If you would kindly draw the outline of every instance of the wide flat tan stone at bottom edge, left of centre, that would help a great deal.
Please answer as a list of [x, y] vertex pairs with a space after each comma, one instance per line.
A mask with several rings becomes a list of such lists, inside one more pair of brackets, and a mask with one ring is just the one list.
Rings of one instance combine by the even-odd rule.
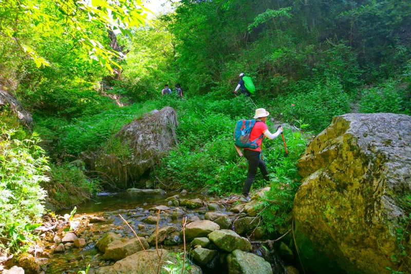
[[[158, 252], [162, 254], [160, 269], [163, 269], [162, 267], [167, 265], [166, 261], [171, 261], [173, 263], [176, 263], [177, 261], [176, 258], [174, 256], [171, 256], [167, 250], [159, 249]], [[147, 258], [147, 255], [148, 255], [148, 258], [150, 258], [150, 260]], [[153, 266], [157, 270], [158, 263], [159, 263], [159, 257], [155, 249], [146, 250], [146, 253], [144, 251], [139, 251], [137, 253], [129, 255], [128, 257], [120, 261], [117, 261], [112, 266], [101, 267], [100, 269], [97, 270], [97, 274], [153, 273], [153, 270], [150, 265], [150, 261], [152, 262]]]

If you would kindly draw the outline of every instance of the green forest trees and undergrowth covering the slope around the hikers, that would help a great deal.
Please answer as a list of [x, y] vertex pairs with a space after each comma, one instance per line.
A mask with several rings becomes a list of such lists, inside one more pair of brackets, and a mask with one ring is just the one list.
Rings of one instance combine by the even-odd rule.
[[[182, 0], [155, 20], [146, 20], [141, 3], [79, 3], [0, 3], [0, 87], [33, 115], [36, 132], [31, 137], [2, 106], [0, 209], [10, 214], [2, 215], [0, 236], [12, 242], [1, 241], [6, 251], [21, 247], [43, 213], [32, 195], [45, 195], [39, 185], [57, 208], [88, 199], [104, 177], [89, 173], [79, 155], [111, 146], [126, 157], [114, 134], [166, 105], [179, 116], [179, 145], [151, 177], [173, 189], [239, 192], [246, 163], [238, 163], [232, 131], [255, 108], [232, 93], [240, 72], [254, 80], [253, 102], [272, 114], [269, 127], [287, 122], [317, 134], [344, 113], [411, 114], [409, 1]], [[104, 16], [110, 8], [118, 21]], [[160, 98], [166, 83], [181, 83], [185, 100]], [[280, 140], [265, 148], [274, 186], [287, 186], [272, 188], [269, 198], [283, 203], [262, 213], [271, 231], [288, 225], [295, 163], [307, 143], [300, 132], [285, 134], [289, 158]], [[30, 165], [22, 169], [11, 158]]]

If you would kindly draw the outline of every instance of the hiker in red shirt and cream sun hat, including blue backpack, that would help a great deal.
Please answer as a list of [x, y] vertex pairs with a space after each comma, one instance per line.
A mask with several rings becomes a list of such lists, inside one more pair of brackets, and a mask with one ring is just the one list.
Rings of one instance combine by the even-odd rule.
[[244, 149], [244, 156], [248, 160], [248, 174], [244, 187], [242, 187], [241, 198], [243, 202], [250, 200], [249, 192], [253, 184], [255, 174], [259, 168], [263, 174], [263, 179], [269, 181], [266, 163], [261, 152], [261, 142], [264, 137], [269, 139], [277, 138], [283, 133], [283, 127], [278, 126], [277, 131], [272, 134], [266, 125], [267, 116], [270, 115], [264, 108], [255, 110], [255, 120], [239, 120], [234, 130], [234, 145], [240, 156], [239, 148]]

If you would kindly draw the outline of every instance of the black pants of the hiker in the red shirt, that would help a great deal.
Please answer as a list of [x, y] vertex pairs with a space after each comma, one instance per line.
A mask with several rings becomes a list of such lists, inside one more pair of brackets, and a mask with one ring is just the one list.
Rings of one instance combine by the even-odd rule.
[[255, 178], [255, 174], [257, 174], [258, 168], [263, 174], [263, 178], [265, 180], [268, 181], [269, 177], [268, 177], [268, 170], [266, 167], [266, 163], [263, 160], [261, 160], [259, 151], [245, 149], [244, 156], [248, 160], [248, 174], [247, 174], [247, 179], [244, 184], [244, 187], [242, 187], [242, 195], [248, 196], [251, 185], [253, 184], [253, 181]]

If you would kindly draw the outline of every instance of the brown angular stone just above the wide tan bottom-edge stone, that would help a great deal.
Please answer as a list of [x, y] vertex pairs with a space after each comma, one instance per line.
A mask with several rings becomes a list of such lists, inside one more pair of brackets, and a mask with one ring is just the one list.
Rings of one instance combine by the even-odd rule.
[[[144, 249], [148, 249], [149, 246], [145, 238], [140, 237], [139, 239]], [[103, 258], [106, 260], [119, 261], [128, 255], [143, 250], [141, 244], [137, 238], [115, 240], [107, 245]]]

